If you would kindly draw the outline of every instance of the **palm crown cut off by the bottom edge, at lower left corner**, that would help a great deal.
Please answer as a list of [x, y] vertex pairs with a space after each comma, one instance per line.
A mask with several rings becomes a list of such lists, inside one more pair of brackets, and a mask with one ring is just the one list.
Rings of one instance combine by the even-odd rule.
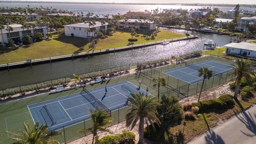
[[62, 133], [55, 131], [47, 132], [47, 125], [39, 126], [39, 122], [36, 122], [32, 129], [30, 129], [29, 125], [26, 123], [23, 123], [23, 126], [25, 131], [20, 131], [20, 135], [17, 133], [6, 131], [6, 133], [12, 135], [10, 139], [16, 141], [15, 143], [59, 143], [58, 141], [54, 140], [53, 137], [56, 135], [61, 135]]

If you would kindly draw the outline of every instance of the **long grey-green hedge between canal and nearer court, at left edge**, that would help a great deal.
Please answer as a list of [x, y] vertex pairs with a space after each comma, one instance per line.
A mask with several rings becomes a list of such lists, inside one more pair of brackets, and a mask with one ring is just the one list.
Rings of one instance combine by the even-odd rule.
[[47, 87], [53, 87], [57, 85], [65, 85], [66, 83], [69, 83], [71, 81], [70, 78], [59, 78], [59, 79], [54, 79], [52, 81], [45, 81], [42, 83], [38, 84], [30, 84], [30, 85], [25, 85], [25, 86], [18, 86], [18, 87], [13, 87], [10, 89], [5, 89], [0, 91], [0, 98], [10, 98], [14, 94], [24, 94], [26, 92], [30, 91], [39, 91], [41, 89], [45, 89]]

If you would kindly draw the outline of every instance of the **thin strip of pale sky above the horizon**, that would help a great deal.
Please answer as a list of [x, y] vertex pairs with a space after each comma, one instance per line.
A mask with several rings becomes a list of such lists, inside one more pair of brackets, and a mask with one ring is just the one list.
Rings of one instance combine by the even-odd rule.
[[[0, 0], [3, 1], [3, 0]], [[36, 1], [36, 0], [22, 0]], [[204, 3], [204, 4], [256, 4], [256, 0], [40, 0], [51, 2], [99, 2], [99, 3]]]

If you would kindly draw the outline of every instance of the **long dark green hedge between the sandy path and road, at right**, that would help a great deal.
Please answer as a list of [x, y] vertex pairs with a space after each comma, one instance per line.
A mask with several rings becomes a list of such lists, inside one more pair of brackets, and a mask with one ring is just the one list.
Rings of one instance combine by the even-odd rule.
[[197, 106], [199, 111], [203, 113], [205, 111], [214, 109], [226, 109], [234, 104], [233, 96], [230, 94], [225, 94], [221, 95], [219, 98], [192, 103], [192, 106]]

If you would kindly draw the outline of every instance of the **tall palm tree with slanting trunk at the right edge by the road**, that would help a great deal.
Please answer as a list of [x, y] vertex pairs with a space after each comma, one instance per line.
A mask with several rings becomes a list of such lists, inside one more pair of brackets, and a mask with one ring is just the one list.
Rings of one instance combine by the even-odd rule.
[[234, 75], [237, 76], [236, 78], [236, 89], [234, 94], [234, 99], [237, 99], [241, 79], [244, 77], [248, 83], [252, 82], [252, 76], [255, 76], [254, 70], [255, 70], [255, 64], [252, 64], [249, 60], [242, 59], [235, 59], [236, 64], [231, 64], [231, 68], [234, 68]]

